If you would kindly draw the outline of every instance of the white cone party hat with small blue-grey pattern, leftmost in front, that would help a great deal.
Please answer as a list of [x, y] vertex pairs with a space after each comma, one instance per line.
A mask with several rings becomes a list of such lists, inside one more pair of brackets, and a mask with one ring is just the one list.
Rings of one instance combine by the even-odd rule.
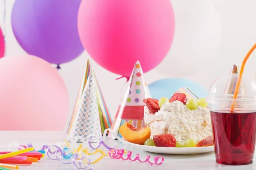
[[[91, 68], [81, 95], [81, 100], [78, 103], [76, 115], [70, 127], [70, 136], [68, 139], [77, 142], [86, 142], [90, 136], [95, 135], [96, 137], [93, 138], [94, 141], [92, 142], [97, 142], [96, 140], [102, 137], [101, 115], [99, 115], [96, 85], [95, 75]], [[78, 138], [79, 136], [81, 137]]]

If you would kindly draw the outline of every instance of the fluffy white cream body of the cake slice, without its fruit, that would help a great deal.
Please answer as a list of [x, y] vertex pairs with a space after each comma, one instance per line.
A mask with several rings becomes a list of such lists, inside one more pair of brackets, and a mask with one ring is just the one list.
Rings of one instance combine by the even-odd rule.
[[212, 135], [209, 108], [198, 106], [191, 111], [180, 101], [165, 102], [155, 114], [149, 113], [145, 106], [144, 122], [150, 127], [151, 138], [169, 133], [175, 136], [177, 142], [184, 143], [187, 139], [199, 142]]

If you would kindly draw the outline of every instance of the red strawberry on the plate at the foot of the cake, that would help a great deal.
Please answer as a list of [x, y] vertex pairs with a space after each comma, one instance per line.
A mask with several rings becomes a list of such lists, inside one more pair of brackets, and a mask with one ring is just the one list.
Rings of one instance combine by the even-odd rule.
[[168, 133], [155, 135], [153, 137], [153, 141], [157, 147], [175, 147], [176, 146], [175, 137]]

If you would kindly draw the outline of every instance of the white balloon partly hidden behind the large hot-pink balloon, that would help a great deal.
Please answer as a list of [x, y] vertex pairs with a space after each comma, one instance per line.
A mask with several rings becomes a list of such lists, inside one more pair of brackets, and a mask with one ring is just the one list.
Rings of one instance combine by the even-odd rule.
[[175, 36], [166, 58], [155, 68], [161, 74], [182, 77], [211, 65], [221, 44], [221, 22], [209, 0], [171, 0]]

